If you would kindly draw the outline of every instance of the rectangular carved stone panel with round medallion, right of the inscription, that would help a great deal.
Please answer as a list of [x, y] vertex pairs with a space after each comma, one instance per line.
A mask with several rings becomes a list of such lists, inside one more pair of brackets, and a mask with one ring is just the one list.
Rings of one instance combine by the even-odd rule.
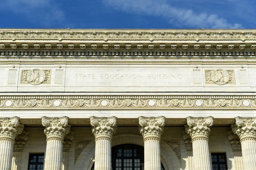
[[206, 84], [236, 84], [234, 70], [205, 70]]

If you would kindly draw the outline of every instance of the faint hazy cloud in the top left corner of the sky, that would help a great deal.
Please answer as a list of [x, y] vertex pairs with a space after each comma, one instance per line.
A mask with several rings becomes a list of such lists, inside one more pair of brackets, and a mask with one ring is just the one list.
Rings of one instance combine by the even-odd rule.
[[3, 0], [0, 10], [17, 13], [41, 25], [56, 24], [64, 17], [63, 11], [52, 0]]

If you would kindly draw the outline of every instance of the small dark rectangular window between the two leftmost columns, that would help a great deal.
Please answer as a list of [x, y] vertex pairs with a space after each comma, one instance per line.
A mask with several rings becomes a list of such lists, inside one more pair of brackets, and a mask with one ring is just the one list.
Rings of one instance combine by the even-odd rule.
[[43, 170], [44, 158], [44, 153], [29, 154], [28, 170]]

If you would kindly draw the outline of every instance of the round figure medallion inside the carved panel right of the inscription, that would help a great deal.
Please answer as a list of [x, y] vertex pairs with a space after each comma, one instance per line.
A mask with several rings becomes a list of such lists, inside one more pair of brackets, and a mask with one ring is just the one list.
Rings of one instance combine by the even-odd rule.
[[229, 80], [228, 72], [223, 69], [214, 70], [211, 74], [211, 80], [217, 85], [225, 85]]

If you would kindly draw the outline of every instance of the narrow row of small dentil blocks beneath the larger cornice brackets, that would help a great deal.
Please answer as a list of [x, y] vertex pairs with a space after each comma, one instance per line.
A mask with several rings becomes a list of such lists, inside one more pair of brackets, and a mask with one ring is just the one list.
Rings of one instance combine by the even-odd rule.
[[237, 58], [241, 56], [256, 56], [256, 51], [0, 51], [0, 57], [9, 57], [9, 56], [22, 56], [25, 57], [40, 57], [44, 56], [44, 58], [52, 58], [53, 56], [63, 57], [105, 57], [105, 58], [113, 58], [118, 56], [125, 57], [147, 57], [154, 58], [156, 56], [166, 58], [177, 56], [183, 57], [232, 57]]

